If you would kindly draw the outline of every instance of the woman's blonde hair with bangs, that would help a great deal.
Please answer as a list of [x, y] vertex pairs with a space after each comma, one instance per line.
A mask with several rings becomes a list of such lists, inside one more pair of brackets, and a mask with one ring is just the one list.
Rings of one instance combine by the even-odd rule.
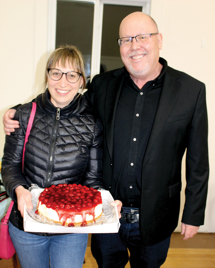
[[64, 68], [68, 63], [75, 69], [74, 71], [82, 74], [82, 78], [84, 81], [80, 91], [80, 93], [82, 93], [86, 86], [86, 76], [84, 73], [84, 58], [81, 52], [74, 45], [61, 45], [59, 48], [55, 49], [50, 55], [45, 70], [45, 79], [43, 83], [44, 89], [46, 89], [46, 85], [48, 82], [48, 69], [55, 68], [56, 64], [59, 64], [59, 61], [61, 61], [61, 65]]

